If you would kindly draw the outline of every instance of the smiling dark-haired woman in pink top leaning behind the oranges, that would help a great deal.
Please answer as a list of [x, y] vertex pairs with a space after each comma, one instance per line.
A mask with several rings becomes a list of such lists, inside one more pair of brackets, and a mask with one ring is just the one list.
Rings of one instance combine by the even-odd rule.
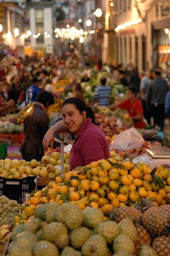
[[109, 158], [109, 146], [102, 129], [95, 123], [94, 112], [78, 98], [62, 103], [63, 120], [52, 126], [43, 139], [44, 149], [53, 145], [55, 134], [70, 131], [75, 140], [70, 152], [70, 169]]

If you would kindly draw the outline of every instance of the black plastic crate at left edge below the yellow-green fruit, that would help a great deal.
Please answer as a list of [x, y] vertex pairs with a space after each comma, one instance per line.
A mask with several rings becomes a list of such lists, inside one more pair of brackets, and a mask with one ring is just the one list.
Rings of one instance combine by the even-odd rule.
[[30, 194], [35, 189], [35, 177], [26, 177], [23, 179], [8, 179], [0, 177], [0, 195], [6, 195], [7, 198], [17, 200], [23, 203], [26, 194]]

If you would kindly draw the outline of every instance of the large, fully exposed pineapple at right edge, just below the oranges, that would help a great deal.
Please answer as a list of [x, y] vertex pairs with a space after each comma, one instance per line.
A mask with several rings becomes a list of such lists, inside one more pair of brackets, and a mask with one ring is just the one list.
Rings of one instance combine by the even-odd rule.
[[142, 216], [142, 223], [151, 237], [167, 234], [170, 226], [170, 205], [147, 209]]

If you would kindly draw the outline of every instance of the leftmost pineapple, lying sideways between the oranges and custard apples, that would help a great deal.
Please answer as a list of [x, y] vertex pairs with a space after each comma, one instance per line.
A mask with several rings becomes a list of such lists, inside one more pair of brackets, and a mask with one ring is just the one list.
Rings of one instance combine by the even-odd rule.
[[117, 223], [122, 221], [124, 218], [131, 218], [133, 221], [142, 218], [142, 212], [133, 207], [120, 207], [113, 209], [111, 219]]

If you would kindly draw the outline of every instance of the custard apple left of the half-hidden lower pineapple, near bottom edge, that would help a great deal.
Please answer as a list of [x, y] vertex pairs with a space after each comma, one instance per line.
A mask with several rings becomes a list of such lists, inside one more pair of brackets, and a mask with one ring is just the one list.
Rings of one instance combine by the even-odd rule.
[[119, 235], [113, 241], [113, 251], [114, 253], [119, 252], [121, 250], [127, 250], [130, 253], [134, 253], [135, 246], [133, 241], [126, 235]]

